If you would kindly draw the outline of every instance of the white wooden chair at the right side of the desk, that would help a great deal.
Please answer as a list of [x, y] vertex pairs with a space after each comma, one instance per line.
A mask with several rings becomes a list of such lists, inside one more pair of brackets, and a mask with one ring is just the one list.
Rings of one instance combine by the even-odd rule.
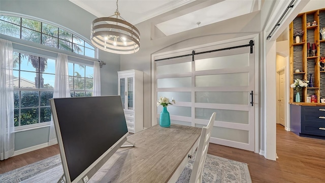
[[210, 141], [210, 136], [211, 136], [211, 130], [213, 127], [215, 115], [216, 115], [216, 113], [213, 112], [210, 117], [210, 121], [209, 121], [209, 124], [207, 125], [207, 127], [202, 128], [199, 146], [197, 149], [197, 155], [195, 157], [193, 169], [192, 169], [191, 176], [189, 179], [190, 183], [201, 183], [202, 182], [202, 173], [203, 173], [205, 159], [207, 157], [209, 141]]

